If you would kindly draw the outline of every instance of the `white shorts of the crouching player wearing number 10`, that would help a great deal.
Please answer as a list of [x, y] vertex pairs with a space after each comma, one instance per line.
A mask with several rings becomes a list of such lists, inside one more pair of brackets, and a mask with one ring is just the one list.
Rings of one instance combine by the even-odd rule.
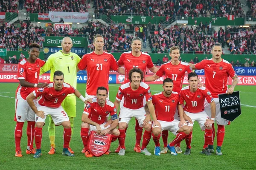
[[199, 126], [201, 127], [201, 130], [205, 130], [204, 122], [206, 121], [206, 119], [210, 119], [205, 111], [199, 113], [190, 113], [187, 111], [184, 112], [192, 119], [193, 124], [189, 123], [189, 126], [193, 126], [194, 122], [197, 121]]

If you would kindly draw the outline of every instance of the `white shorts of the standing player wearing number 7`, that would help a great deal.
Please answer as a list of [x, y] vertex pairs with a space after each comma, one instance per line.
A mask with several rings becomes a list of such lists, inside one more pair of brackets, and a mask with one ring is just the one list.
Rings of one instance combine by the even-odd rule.
[[[227, 125], [228, 120], [221, 118], [221, 108], [220, 108], [220, 102], [218, 98], [214, 98], [214, 102], [216, 105], [216, 115], [215, 115], [215, 121], [218, 125]], [[211, 105], [207, 102], [205, 99], [204, 101], [204, 111], [207, 113], [207, 115], [211, 118]]]

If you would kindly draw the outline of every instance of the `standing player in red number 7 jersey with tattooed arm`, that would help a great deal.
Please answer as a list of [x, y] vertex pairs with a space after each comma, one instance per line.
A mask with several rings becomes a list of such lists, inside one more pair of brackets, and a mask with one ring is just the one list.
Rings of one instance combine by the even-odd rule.
[[[212, 58], [204, 59], [197, 64], [189, 63], [192, 69], [204, 69], [205, 73], [205, 86], [211, 92], [212, 97], [214, 98], [214, 102], [216, 105], [216, 122], [218, 125], [217, 130], [217, 147], [216, 147], [216, 155], [222, 155], [221, 146], [224, 140], [225, 135], [225, 125], [229, 125], [229, 121], [221, 118], [220, 104], [218, 99], [218, 94], [232, 94], [235, 86], [238, 83], [239, 78], [234, 71], [232, 65], [221, 58], [222, 48], [221, 44], [216, 43], [212, 46]], [[233, 79], [232, 85], [230, 88], [227, 88], [227, 80], [228, 77]], [[208, 102], [204, 103], [205, 111], [209, 117], [211, 117], [211, 108]], [[215, 129], [212, 126], [212, 135], [213, 139], [215, 137]], [[211, 142], [208, 146], [211, 152], [214, 152], [213, 142]]]

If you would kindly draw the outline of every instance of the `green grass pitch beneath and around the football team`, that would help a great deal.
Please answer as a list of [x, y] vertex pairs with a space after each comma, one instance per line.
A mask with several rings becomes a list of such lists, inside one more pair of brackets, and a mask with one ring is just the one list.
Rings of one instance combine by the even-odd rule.
[[[77, 89], [81, 94], [85, 93], [85, 84], [78, 84]], [[150, 85], [152, 94], [162, 91], [161, 85]], [[151, 169], [151, 170], [169, 170], [169, 169], [256, 169], [256, 87], [255, 86], [237, 86], [236, 91], [241, 91], [240, 99], [242, 115], [226, 126], [224, 144], [222, 146], [222, 156], [201, 155], [199, 152], [204, 144], [204, 132], [195, 123], [192, 139], [192, 153], [185, 156], [183, 153], [172, 156], [170, 153], [154, 156], [154, 142], [151, 139], [148, 144], [148, 150], [152, 156], [145, 156], [133, 151], [135, 144], [134, 119], [131, 120], [126, 136], [125, 156], [118, 156], [114, 153], [118, 141], [111, 144], [110, 155], [101, 157], [86, 158], [81, 150], [83, 144], [80, 137], [81, 114], [83, 103], [77, 99], [77, 113], [75, 118], [75, 128], [70, 147], [75, 151], [75, 157], [62, 156], [63, 147], [63, 127], [56, 128], [56, 154], [49, 155], [50, 149], [48, 135], [48, 118], [43, 128], [42, 153], [39, 159], [34, 159], [32, 155], [26, 155], [26, 123], [23, 127], [23, 137], [21, 139], [21, 148], [23, 157], [15, 157], [14, 129], [13, 121], [15, 114], [15, 91], [17, 83], [0, 84], [0, 170], [6, 169], [24, 169], [24, 170], [48, 170], [48, 169]], [[119, 85], [110, 84], [110, 99], [114, 102]], [[215, 125], [216, 128], [216, 125]], [[216, 128], [217, 129], [217, 128]], [[169, 133], [168, 142], [174, 139], [174, 135]], [[161, 148], [163, 147], [162, 138], [160, 139]], [[34, 144], [35, 145], [35, 144]], [[181, 142], [183, 152], [186, 149], [185, 142]], [[216, 139], [215, 139], [216, 147]]]

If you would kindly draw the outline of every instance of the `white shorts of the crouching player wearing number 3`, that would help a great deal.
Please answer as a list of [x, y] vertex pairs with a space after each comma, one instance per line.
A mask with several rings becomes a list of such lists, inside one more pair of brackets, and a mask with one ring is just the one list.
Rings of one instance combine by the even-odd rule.
[[47, 115], [52, 117], [52, 120], [56, 126], [61, 125], [62, 122], [69, 121], [67, 113], [64, 111], [62, 106], [59, 108], [49, 108], [46, 106], [37, 105], [38, 111], [44, 111], [44, 119], [38, 117], [35, 114], [35, 122], [45, 122]]

